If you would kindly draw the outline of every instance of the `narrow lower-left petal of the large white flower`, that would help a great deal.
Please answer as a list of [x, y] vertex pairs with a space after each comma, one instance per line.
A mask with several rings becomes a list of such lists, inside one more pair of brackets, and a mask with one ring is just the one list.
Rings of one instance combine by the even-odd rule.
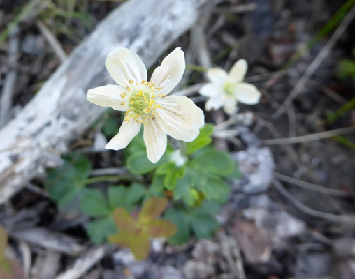
[[136, 137], [140, 130], [140, 123], [133, 121], [131, 119], [129, 122], [124, 121], [122, 123], [121, 128], [119, 128], [119, 132], [115, 137], [106, 144], [106, 149], [119, 150], [125, 148], [129, 142]]

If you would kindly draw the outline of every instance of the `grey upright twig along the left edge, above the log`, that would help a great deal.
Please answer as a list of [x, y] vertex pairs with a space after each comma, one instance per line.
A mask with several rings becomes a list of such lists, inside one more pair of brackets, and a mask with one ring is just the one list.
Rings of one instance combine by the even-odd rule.
[[8, 51], [8, 65], [11, 67], [11, 69], [6, 75], [3, 92], [1, 93], [0, 98], [0, 128], [3, 127], [10, 119], [9, 112], [13, 103], [13, 91], [17, 80], [17, 70], [14, 66], [17, 63], [19, 43], [20, 40], [18, 38], [18, 28], [15, 28], [10, 32], [10, 43]]

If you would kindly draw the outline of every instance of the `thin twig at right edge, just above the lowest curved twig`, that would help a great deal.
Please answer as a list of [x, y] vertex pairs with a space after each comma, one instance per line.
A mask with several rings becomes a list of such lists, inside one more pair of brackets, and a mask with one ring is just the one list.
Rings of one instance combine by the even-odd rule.
[[352, 196], [355, 195], [355, 193], [349, 193], [342, 190], [326, 188], [324, 186], [319, 186], [317, 184], [301, 181], [299, 179], [294, 179], [293, 177], [289, 177], [284, 174], [279, 174], [277, 172], [275, 172], [274, 174], [275, 174], [275, 178], [280, 179], [281, 181], [291, 183], [293, 185], [300, 186], [302, 188], [305, 188], [307, 190], [312, 190], [314, 192], [319, 192], [326, 195], [340, 196], [340, 197], [349, 197], [349, 195]]

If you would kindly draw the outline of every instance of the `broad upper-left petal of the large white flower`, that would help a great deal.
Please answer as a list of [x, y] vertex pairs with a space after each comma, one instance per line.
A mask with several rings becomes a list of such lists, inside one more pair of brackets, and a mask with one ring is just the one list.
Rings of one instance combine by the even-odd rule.
[[129, 80], [140, 83], [147, 80], [147, 69], [139, 56], [129, 49], [117, 47], [106, 59], [106, 69], [117, 84], [131, 86]]

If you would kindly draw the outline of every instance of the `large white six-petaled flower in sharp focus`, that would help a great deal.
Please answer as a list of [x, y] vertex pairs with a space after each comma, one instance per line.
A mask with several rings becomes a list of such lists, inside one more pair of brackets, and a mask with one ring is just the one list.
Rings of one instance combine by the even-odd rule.
[[193, 141], [204, 124], [203, 111], [189, 98], [166, 96], [180, 82], [185, 69], [184, 52], [176, 48], [154, 70], [147, 82], [147, 69], [138, 55], [118, 47], [106, 59], [106, 68], [119, 85], [91, 89], [87, 100], [126, 111], [119, 133], [106, 149], [125, 148], [144, 126], [148, 159], [153, 163], [163, 156], [166, 135], [184, 142]]

